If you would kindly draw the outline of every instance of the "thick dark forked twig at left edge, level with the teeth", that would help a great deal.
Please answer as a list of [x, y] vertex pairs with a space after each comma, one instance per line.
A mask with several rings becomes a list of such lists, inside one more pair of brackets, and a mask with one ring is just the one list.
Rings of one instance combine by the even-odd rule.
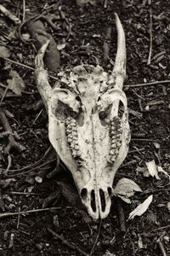
[[2, 109], [0, 109], [0, 120], [1, 123], [4, 127], [5, 131], [8, 131], [10, 134], [8, 136], [8, 145], [6, 146], [6, 148], [4, 148], [4, 153], [5, 154], [9, 154], [9, 151], [11, 148], [15, 148], [18, 152], [22, 152], [23, 150], [26, 150], [26, 148], [22, 145], [20, 145], [20, 143], [17, 143], [14, 139], [13, 131], [8, 123], [8, 119], [6, 118], [5, 113], [3, 112]]

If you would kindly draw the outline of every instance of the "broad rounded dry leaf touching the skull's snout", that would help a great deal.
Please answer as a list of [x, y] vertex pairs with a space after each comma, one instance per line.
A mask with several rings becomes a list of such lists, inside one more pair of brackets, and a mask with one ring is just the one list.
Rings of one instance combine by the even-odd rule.
[[123, 201], [130, 203], [128, 197], [133, 196], [135, 191], [142, 192], [142, 189], [133, 180], [123, 177], [116, 183], [114, 194], [119, 196]]

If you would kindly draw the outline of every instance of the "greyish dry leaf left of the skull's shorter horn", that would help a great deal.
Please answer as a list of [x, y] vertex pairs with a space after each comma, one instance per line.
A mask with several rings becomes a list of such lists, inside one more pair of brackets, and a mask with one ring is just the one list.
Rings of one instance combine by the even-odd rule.
[[16, 95], [21, 96], [21, 92], [25, 89], [24, 80], [20, 78], [19, 73], [16, 71], [10, 71], [12, 79], [8, 79], [8, 89], [12, 90]]

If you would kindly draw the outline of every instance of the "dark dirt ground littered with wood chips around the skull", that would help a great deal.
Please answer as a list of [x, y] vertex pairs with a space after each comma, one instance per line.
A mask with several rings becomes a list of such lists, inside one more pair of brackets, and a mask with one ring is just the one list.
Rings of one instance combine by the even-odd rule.
[[[95, 56], [105, 71], [111, 70], [116, 55], [114, 13], [119, 15], [127, 41], [127, 79], [124, 91], [128, 107], [135, 113], [129, 114], [132, 133], [129, 153], [116, 172], [113, 186], [121, 177], [127, 177], [139, 184], [143, 192], [133, 195], [131, 204], [113, 198], [110, 215], [99, 223], [82, 209], [77, 202], [76, 192], [69, 192], [73, 182], [62, 170], [62, 166], [59, 166], [62, 172], [56, 177], [46, 177], [47, 173], [54, 170], [56, 163], [54, 157], [47, 153], [50, 147], [47, 113], [41, 104], [37, 105], [41, 97], [35, 84], [34, 72], [11, 62], [17, 61], [34, 67], [37, 55], [33, 44], [35, 41], [30, 41], [30, 38], [28, 42], [26, 23], [22, 24], [19, 35], [20, 25], [15, 25], [0, 14], [0, 46], [10, 51], [9, 61], [0, 57], [1, 109], [8, 119], [15, 140], [26, 148], [22, 152], [11, 148], [9, 154], [4, 154], [8, 137], [0, 137], [2, 256], [73, 256], [90, 253], [98, 256], [170, 255], [169, 178], [163, 173], [159, 173], [160, 179], [156, 179], [144, 177], [142, 172], [137, 172], [137, 168], [145, 166], [145, 161], [155, 160], [156, 165], [170, 175], [170, 82], [167, 81], [170, 79], [170, 3], [168, 0], [104, 2], [90, 1], [83, 7], [77, 6], [73, 0], [3, 0], [1, 4], [20, 20], [23, 20], [23, 9], [25, 20], [30, 14], [48, 17], [51, 14], [59, 15], [60, 9], [63, 11], [66, 21], [65, 18], [57, 20], [54, 23], [56, 31], [43, 21], [48, 33], [53, 35], [59, 46], [59, 68], [75, 67], [81, 62], [95, 64]], [[26, 3], [26, 8], [23, 3]], [[110, 27], [111, 37], [107, 38]], [[24, 36], [27, 38], [23, 39]], [[150, 36], [152, 49], [148, 65]], [[104, 44], [109, 49], [109, 58], [105, 57], [107, 51]], [[59, 65], [59, 60], [56, 61]], [[11, 90], [5, 93], [11, 70], [19, 73], [26, 84], [20, 96]], [[51, 75], [57, 76], [56, 73]], [[155, 81], [164, 82], [146, 84]], [[50, 79], [50, 83], [53, 84], [54, 79]], [[0, 123], [0, 132], [3, 131], [4, 126]], [[8, 165], [10, 168], [6, 172]], [[8, 181], [8, 178], [12, 180]], [[129, 212], [149, 195], [153, 195], [149, 209], [142, 216], [127, 221]], [[2, 216], [4, 212], [31, 211], [42, 209], [42, 206], [58, 209]], [[124, 218], [126, 230], [122, 230]], [[50, 230], [54, 230], [58, 238]], [[71, 249], [70, 245], [76, 245], [76, 248]], [[77, 252], [77, 248], [83, 252]]]

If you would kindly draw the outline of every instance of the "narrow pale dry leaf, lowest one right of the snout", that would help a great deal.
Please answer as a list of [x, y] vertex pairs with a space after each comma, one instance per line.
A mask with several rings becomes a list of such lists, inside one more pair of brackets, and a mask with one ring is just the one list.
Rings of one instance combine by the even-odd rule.
[[135, 216], [141, 216], [148, 209], [152, 200], [153, 195], [150, 195], [142, 204], [136, 207], [133, 212], [129, 213], [128, 219], [133, 219]]

